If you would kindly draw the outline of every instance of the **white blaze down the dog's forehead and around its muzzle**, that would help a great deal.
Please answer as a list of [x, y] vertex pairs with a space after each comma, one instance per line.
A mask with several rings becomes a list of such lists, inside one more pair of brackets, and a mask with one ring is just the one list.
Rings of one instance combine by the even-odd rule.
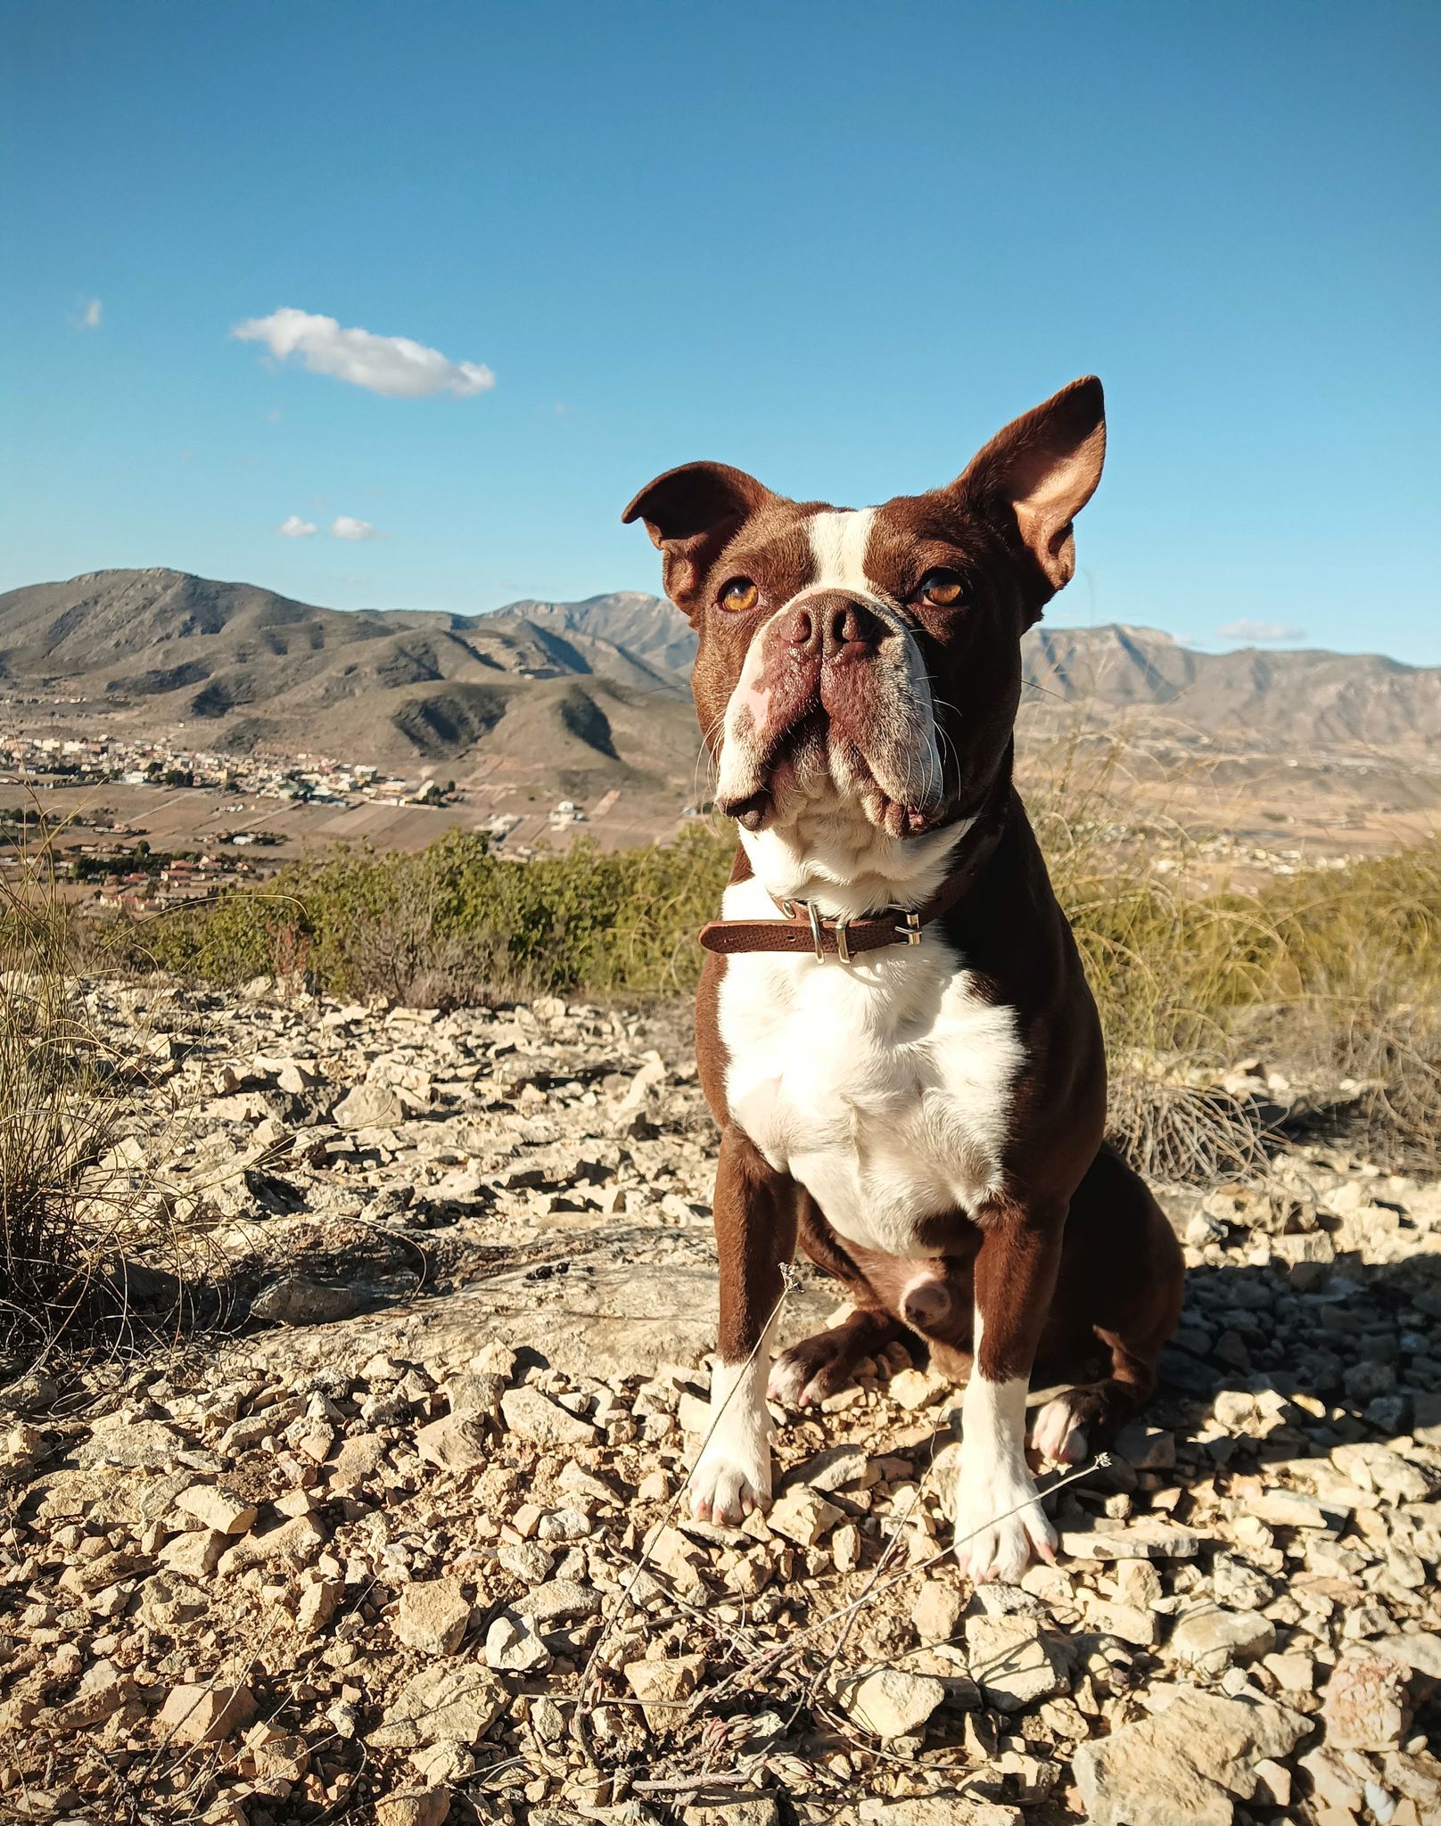
[[[871, 544], [875, 508], [826, 509], [807, 520], [811, 542], [811, 579], [789, 603], [760, 626], [745, 654], [742, 676], [725, 710], [716, 796], [725, 802], [751, 798], [762, 787], [760, 767], [769, 690], [763, 683], [767, 645], [780, 623], [807, 595], [842, 592], [864, 603], [889, 632], [886, 650], [877, 656], [889, 687], [877, 694], [877, 723], [857, 740], [877, 785], [888, 798], [915, 803], [939, 798], [942, 789], [941, 749], [935, 732], [930, 677], [920, 648], [911, 637], [899, 604], [868, 575], [866, 553]], [[840, 761], [840, 765], [836, 765]], [[849, 796], [864, 787], [855, 782], [844, 760], [833, 752], [836, 785]]]

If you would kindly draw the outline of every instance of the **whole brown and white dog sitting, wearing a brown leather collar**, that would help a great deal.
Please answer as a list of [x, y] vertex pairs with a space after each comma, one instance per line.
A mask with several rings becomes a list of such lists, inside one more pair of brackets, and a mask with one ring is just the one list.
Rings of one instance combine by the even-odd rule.
[[[641, 489], [696, 624], [696, 708], [740, 824], [705, 928], [701, 1081], [721, 1125], [720, 1351], [690, 1501], [771, 1494], [767, 1393], [805, 1406], [904, 1331], [966, 1379], [957, 1547], [1054, 1552], [1026, 1463], [1076, 1463], [1149, 1399], [1180, 1249], [1101, 1139], [1096, 1008], [1012, 785], [1021, 635], [1076, 568], [1098, 380], [950, 486], [838, 511], [723, 464]], [[796, 1244], [853, 1315], [771, 1364]]]

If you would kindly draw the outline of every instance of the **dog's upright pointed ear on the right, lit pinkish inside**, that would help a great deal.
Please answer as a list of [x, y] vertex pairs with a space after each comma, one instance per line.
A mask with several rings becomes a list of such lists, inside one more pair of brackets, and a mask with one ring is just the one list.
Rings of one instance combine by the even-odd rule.
[[997, 431], [950, 493], [1021, 539], [1050, 590], [1076, 575], [1070, 522], [1096, 493], [1105, 462], [1105, 396], [1094, 374]]

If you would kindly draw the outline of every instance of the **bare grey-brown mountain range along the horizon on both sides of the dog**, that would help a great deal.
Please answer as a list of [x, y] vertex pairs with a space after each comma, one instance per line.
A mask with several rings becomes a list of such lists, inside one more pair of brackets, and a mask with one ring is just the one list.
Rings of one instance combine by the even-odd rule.
[[[402, 774], [533, 774], [575, 792], [687, 792], [696, 637], [659, 597], [510, 603], [484, 615], [334, 610], [175, 570], [106, 570], [0, 595], [0, 690], [86, 699], [130, 732], [310, 752]], [[1441, 666], [1330, 652], [1200, 654], [1147, 628], [1026, 637], [1028, 716], [1163, 712], [1191, 738], [1417, 749], [1441, 741]]]

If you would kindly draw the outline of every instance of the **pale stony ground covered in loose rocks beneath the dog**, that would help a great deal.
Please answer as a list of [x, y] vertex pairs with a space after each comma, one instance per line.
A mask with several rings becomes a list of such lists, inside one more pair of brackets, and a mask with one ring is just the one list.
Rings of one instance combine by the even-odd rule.
[[[146, 1061], [111, 1169], [236, 1300], [2, 1397], [0, 1813], [1441, 1817], [1441, 1187], [1313, 1141], [1162, 1189], [1165, 1388], [1057, 1490], [1061, 1563], [972, 1590], [955, 1391], [902, 1349], [778, 1415], [765, 1521], [687, 1519], [712, 1134], [679, 1024], [91, 1013]], [[789, 1337], [833, 1309], [798, 1273]]]

